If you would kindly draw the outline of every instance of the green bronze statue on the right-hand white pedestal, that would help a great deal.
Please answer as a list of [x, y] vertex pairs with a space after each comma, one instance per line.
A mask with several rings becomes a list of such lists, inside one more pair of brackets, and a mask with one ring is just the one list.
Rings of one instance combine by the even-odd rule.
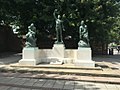
[[79, 38], [80, 38], [80, 41], [78, 43], [79, 47], [89, 47], [90, 46], [87, 25], [84, 24], [84, 21], [81, 21], [81, 25], [79, 27]]

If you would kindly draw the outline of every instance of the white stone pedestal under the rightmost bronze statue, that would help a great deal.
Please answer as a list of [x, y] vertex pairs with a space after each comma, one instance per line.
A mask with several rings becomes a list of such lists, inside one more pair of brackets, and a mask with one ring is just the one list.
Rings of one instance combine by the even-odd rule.
[[75, 65], [83, 67], [95, 67], [95, 62], [92, 61], [91, 48], [78, 48]]

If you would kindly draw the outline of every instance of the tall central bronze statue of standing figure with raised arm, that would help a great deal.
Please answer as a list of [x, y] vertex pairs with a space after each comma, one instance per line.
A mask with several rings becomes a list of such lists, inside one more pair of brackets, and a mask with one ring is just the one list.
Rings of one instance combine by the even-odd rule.
[[56, 44], [63, 44], [63, 39], [62, 39], [62, 30], [64, 30], [64, 26], [63, 26], [63, 21], [61, 20], [61, 16], [58, 15], [58, 17], [56, 17], [56, 12], [57, 9], [54, 10], [53, 16], [56, 20], [56, 38], [57, 41], [55, 42]]

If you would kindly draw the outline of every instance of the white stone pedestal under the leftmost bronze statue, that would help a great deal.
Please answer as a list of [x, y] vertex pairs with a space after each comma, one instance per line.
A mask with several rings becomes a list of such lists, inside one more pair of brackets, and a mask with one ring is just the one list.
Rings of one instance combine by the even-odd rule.
[[36, 65], [38, 62], [38, 48], [24, 48], [22, 52], [22, 59], [19, 65]]

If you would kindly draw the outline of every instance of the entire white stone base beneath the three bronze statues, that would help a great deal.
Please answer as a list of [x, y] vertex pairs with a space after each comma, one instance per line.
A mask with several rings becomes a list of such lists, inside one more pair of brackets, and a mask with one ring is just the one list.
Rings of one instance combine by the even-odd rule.
[[24, 48], [19, 65], [75, 64], [77, 66], [94, 67], [91, 48], [65, 50], [64, 44], [54, 44], [53, 49]]

